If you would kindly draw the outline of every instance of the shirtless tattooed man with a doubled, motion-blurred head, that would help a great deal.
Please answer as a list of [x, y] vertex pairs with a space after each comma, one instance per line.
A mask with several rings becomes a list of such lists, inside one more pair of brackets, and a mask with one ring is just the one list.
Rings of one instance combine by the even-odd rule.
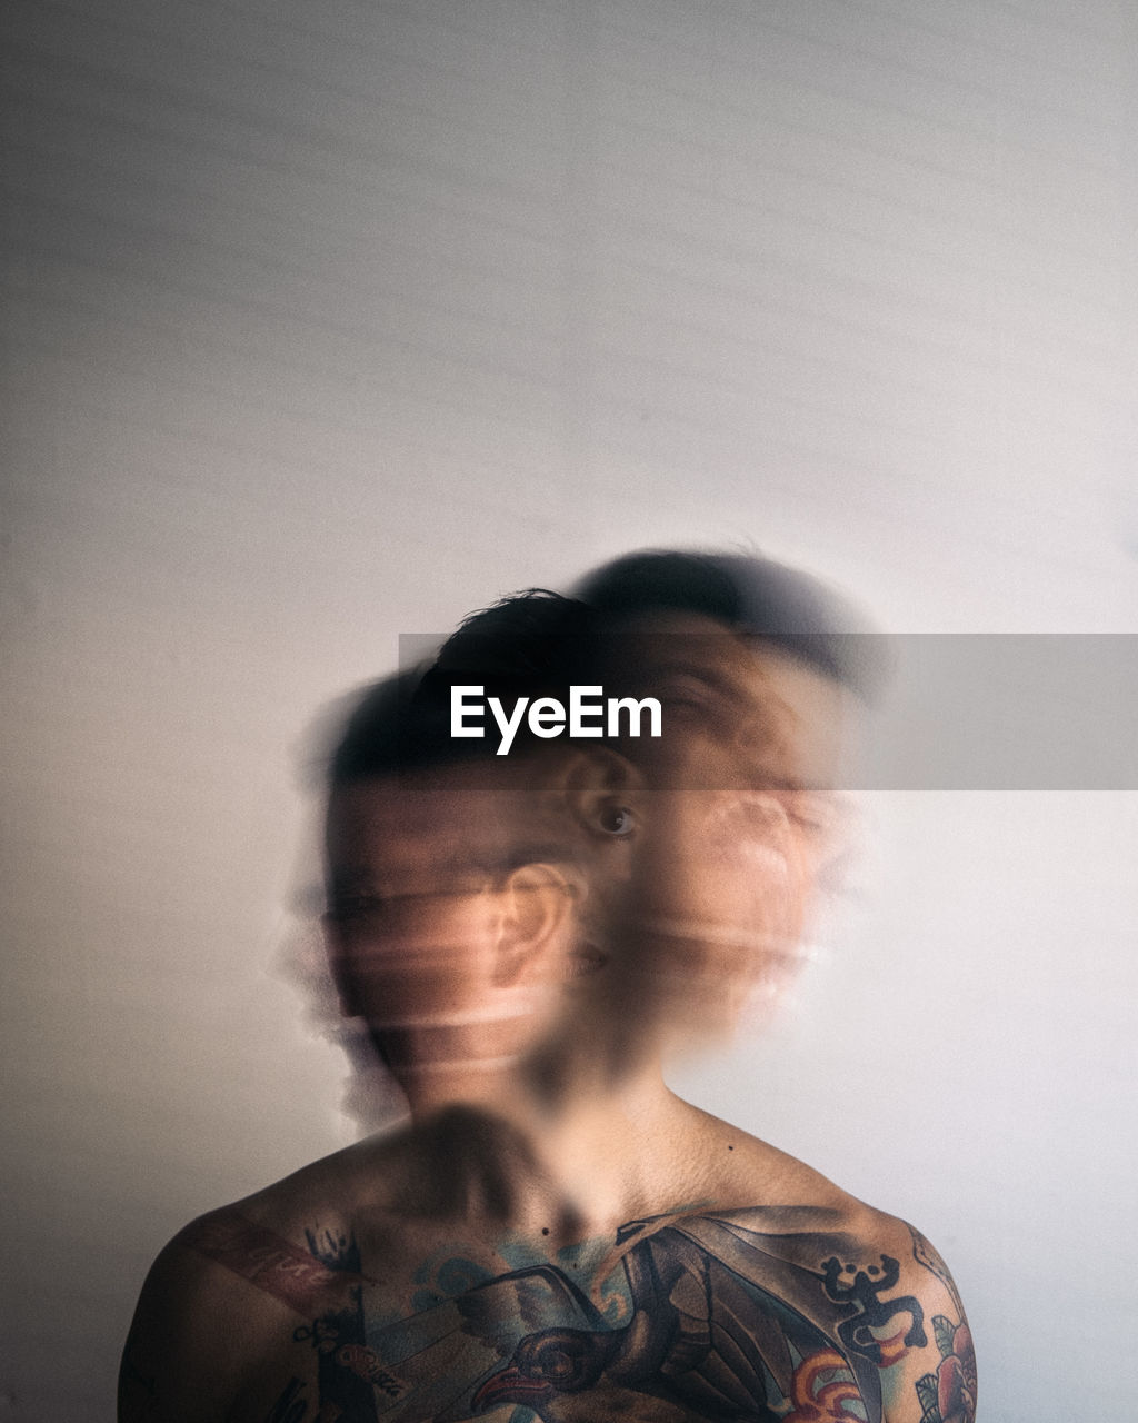
[[[124, 1419], [973, 1417], [967, 1326], [927, 1242], [661, 1076], [670, 1042], [795, 963], [841, 669], [622, 576], [623, 595], [595, 585], [622, 647], [599, 657], [660, 692], [667, 734], [512, 763], [505, 858], [454, 852], [484, 803], [447, 855], [393, 868], [410, 840], [390, 784], [334, 777], [333, 962], [413, 1124], [175, 1238]], [[475, 800], [505, 784], [430, 774], [410, 788], [422, 844], [462, 776]], [[502, 1012], [518, 989], [533, 1006]]]

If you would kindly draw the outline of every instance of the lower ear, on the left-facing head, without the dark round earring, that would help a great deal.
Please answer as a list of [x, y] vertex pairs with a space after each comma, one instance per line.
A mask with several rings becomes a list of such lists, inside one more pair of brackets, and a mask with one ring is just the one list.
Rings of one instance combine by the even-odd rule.
[[555, 983], [565, 978], [572, 919], [580, 887], [553, 864], [519, 865], [499, 891], [495, 982]]

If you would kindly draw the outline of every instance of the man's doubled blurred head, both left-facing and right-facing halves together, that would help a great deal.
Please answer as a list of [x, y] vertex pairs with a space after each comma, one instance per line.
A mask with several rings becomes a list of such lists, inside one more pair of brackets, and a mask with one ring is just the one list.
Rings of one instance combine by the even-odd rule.
[[[474, 615], [425, 672], [367, 693], [331, 761], [330, 946], [384, 1054], [523, 1052], [558, 1017], [551, 985], [609, 961], [575, 1010], [615, 1027], [636, 1012], [647, 1037], [703, 1036], [772, 995], [829, 851], [842, 703], [873, 673], [854, 629], [765, 561], [630, 555], [579, 599]], [[505, 703], [656, 696], [663, 734], [523, 729], [496, 757], [451, 734], [455, 684]], [[523, 952], [535, 925], [545, 948]]]

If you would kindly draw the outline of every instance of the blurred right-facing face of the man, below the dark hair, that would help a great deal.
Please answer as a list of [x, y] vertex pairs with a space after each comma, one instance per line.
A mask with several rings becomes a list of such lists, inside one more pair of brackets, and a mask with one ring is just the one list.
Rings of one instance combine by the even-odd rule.
[[704, 618], [654, 619], [630, 643], [636, 694], [660, 699], [663, 736], [624, 747], [647, 785], [626, 972], [701, 1037], [777, 998], [802, 962], [835, 848], [844, 693]]

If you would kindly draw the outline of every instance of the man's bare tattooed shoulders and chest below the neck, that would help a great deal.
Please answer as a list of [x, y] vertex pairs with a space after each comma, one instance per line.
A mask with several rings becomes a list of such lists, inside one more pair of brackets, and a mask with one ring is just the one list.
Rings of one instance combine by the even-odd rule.
[[[600, 1171], [597, 1138], [606, 1143]], [[575, 1160], [587, 1160], [587, 1183]], [[630, 1222], [650, 1224], [629, 1231]], [[644, 1286], [637, 1252], [653, 1237], [674, 1262], [670, 1288]], [[350, 1269], [297, 1275], [294, 1261], [320, 1258]], [[943, 1365], [933, 1321], [953, 1332], [963, 1322], [950, 1281], [923, 1262], [935, 1259], [903, 1222], [663, 1089], [559, 1123], [548, 1137], [481, 1109], [448, 1109], [307, 1167], [175, 1239], [139, 1302], [122, 1417], [496, 1417], [516, 1403], [545, 1419], [617, 1407], [652, 1419], [767, 1417], [700, 1405], [700, 1377], [724, 1350], [698, 1323], [690, 1377], [671, 1377], [667, 1359], [653, 1366], [656, 1342], [636, 1340], [643, 1359], [626, 1343], [640, 1321], [671, 1328], [676, 1298], [693, 1296], [683, 1298], [688, 1316], [717, 1306], [710, 1262], [735, 1289], [741, 1279], [755, 1298], [795, 1312], [789, 1326], [767, 1326], [774, 1340], [751, 1326], [745, 1358], [731, 1356], [743, 1386], [762, 1379], [768, 1407], [918, 1423], [918, 1380]], [[634, 1281], [624, 1261], [639, 1265]], [[788, 1264], [798, 1276], [789, 1285]], [[859, 1303], [856, 1272], [888, 1285]], [[566, 1313], [549, 1299], [551, 1278], [568, 1279], [587, 1303]], [[862, 1316], [865, 1331], [851, 1333]], [[587, 1402], [551, 1390], [532, 1363], [526, 1376], [523, 1339], [556, 1328], [603, 1342], [623, 1331], [624, 1356], [602, 1370]], [[875, 1348], [878, 1358], [866, 1358]], [[807, 1410], [811, 1368], [841, 1407]], [[863, 1413], [852, 1399], [863, 1400]], [[945, 1419], [956, 1416], [970, 1413]]]

